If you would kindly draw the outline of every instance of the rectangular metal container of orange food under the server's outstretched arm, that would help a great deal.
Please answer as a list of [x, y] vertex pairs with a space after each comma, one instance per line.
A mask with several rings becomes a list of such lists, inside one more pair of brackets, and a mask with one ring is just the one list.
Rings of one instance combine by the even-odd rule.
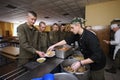
[[69, 55], [73, 54], [73, 50], [72, 50], [72, 47], [68, 45], [58, 46], [55, 48], [55, 54], [56, 54], [56, 57], [65, 59]]

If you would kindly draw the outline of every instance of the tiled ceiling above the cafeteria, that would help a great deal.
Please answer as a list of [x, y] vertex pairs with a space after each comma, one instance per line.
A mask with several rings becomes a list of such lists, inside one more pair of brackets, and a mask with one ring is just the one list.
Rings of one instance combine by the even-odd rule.
[[23, 23], [27, 11], [38, 14], [37, 22], [69, 23], [74, 17], [85, 18], [85, 5], [110, 0], [0, 0], [0, 21]]

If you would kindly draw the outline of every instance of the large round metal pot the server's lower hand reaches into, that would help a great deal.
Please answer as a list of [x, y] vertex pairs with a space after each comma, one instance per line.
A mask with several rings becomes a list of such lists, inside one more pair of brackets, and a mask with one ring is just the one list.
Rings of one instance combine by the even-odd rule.
[[61, 69], [63, 70], [63, 72], [67, 72], [67, 73], [71, 73], [71, 74], [74, 74], [79, 80], [89, 80], [89, 66], [86, 65], [86, 71], [84, 72], [69, 72], [69, 71], [66, 71], [64, 69], [64, 67], [66, 66], [71, 66], [75, 61], [75, 59], [66, 59], [64, 60], [60, 65], [61, 65]]

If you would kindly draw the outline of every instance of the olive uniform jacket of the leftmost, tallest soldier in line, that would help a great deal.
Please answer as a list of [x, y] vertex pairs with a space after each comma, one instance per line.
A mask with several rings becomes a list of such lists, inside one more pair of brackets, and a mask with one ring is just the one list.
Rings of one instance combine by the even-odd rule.
[[17, 28], [17, 31], [20, 41], [19, 58], [33, 58], [38, 49], [38, 30], [34, 26], [31, 29], [27, 23], [24, 23]]

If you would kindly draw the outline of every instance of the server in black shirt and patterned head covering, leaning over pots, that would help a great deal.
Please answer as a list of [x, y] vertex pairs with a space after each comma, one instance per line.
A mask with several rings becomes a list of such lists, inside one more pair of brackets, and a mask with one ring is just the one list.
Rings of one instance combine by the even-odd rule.
[[84, 60], [76, 61], [71, 65], [72, 69], [77, 70], [80, 66], [90, 65], [90, 80], [105, 80], [104, 67], [106, 64], [106, 57], [100, 47], [98, 38], [94, 33], [82, 28], [81, 18], [74, 18], [70, 24], [71, 31], [74, 33], [69, 38], [62, 40], [48, 48], [54, 49], [56, 46], [71, 44], [78, 41], [79, 50], [84, 55]]

